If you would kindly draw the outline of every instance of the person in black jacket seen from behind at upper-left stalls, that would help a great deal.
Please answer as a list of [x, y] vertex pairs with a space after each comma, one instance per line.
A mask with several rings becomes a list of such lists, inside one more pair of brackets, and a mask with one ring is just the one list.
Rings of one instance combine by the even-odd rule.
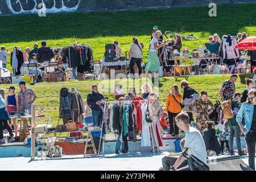
[[38, 49], [38, 54], [36, 55], [36, 60], [38, 63], [43, 63], [44, 61], [50, 61], [53, 57], [55, 57], [52, 49], [46, 46], [46, 42], [42, 41], [42, 47]]

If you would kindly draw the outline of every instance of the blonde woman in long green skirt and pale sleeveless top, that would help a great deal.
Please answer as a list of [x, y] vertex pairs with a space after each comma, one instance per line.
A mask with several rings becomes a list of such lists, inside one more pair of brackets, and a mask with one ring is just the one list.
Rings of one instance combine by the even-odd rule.
[[[158, 73], [160, 67], [160, 61], [158, 58], [158, 49], [163, 47], [165, 44], [158, 44], [158, 39], [162, 36], [160, 31], [156, 31], [152, 35], [154, 38], [151, 40], [150, 51], [148, 53], [147, 65], [145, 71], [147, 74]], [[155, 74], [154, 74], [155, 75]]]

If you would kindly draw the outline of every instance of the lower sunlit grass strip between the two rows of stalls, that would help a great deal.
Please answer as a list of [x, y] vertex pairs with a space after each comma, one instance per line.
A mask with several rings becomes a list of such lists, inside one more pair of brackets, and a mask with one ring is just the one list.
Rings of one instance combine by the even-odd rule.
[[[246, 88], [245, 85], [245, 75], [239, 75], [236, 82], [236, 91], [243, 92]], [[210, 76], [193, 76], [189, 77], [189, 84], [198, 92], [200, 90], [208, 90], [208, 96], [211, 101], [215, 103], [216, 100], [220, 100], [219, 90], [222, 86], [223, 81], [228, 80], [230, 75], [210, 75]], [[246, 75], [246, 77], [252, 78], [253, 75]], [[171, 86], [174, 84], [180, 85], [180, 81], [183, 78], [179, 78], [175, 81], [174, 77], [164, 77], [159, 79], [159, 101], [160, 104], [165, 108], [167, 94], [171, 90]], [[131, 81], [131, 82], [129, 82]], [[150, 82], [150, 80], [115, 80], [115, 82], [120, 82], [123, 85], [123, 90], [125, 94], [128, 92], [129, 84], [135, 85], [137, 92], [141, 92], [141, 84], [144, 82]], [[73, 81], [73, 82], [51, 82], [51, 83], [40, 83], [34, 86], [28, 85], [28, 88], [32, 88], [34, 92], [37, 94], [38, 98], [36, 99], [36, 113], [44, 114], [46, 117], [52, 117], [53, 125], [57, 124], [59, 117], [59, 100], [60, 100], [60, 89], [63, 87], [67, 88], [77, 88], [79, 92], [82, 93], [84, 100], [87, 97], [87, 94], [91, 92], [91, 86], [93, 84], [98, 84], [99, 86], [103, 86], [100, 91], [104, 94], [105, 97], [108, 97], [110, 101], [114, 100], [112, 96], [112, 90], [114, 85], [114, 80], [104, 80], [104, 81]], [[7, 88], [10, 85], [1, 85], [1, 88]], [[13, 85], [18, 89], [18, 85]], [[125, 89], [127, 88], [127, 90]], [[153, 88], [158, 89], [158, 88]], [[19, 89], [18, 89], [19, 90]], [[181, 92], [183, 90], [181, 89]], [[37, 118], [36, 123], [46, 123], [47, 118]]]

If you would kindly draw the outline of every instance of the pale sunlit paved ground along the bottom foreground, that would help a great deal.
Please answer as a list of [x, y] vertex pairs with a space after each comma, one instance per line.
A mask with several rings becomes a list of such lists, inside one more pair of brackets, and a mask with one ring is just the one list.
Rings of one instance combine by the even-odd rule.
[[[36, 158], [32, 162], [30, 158], [1, 158], [0, 170], [156, 171], [162, 166], [163, 156], [168, 154], [168, 152], [156, 155], [152, 153], [110, 154], [105, 155], [105, 158], [83, 158], [82, 155], [76, 155], [47, 160]], [[248, 164], [247, 156], [242, 160]]]

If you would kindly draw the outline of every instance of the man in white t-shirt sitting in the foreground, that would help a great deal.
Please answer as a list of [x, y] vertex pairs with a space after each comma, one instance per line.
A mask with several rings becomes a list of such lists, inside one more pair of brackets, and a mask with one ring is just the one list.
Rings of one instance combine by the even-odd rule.
[[[204, 139], [197, 129], [190, 127], [188, 114], [181, 112], [176, 116], [175, 121], [179, 129], [185, 131], [183, 151], [188, 150], [189, 155], [196, 156], [206, 164], [207, 152]], [[187, 159], [182, 154], [179, 157], [164, 156], [162, 164], [164, 171], [189, 171]]]

